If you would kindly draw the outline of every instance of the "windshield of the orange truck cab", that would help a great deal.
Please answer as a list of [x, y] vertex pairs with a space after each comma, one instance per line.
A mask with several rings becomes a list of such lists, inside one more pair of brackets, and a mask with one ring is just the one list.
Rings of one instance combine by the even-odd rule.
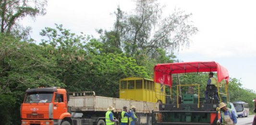
[[52, 92], [27, 93], [24, 103], [50, 103]]

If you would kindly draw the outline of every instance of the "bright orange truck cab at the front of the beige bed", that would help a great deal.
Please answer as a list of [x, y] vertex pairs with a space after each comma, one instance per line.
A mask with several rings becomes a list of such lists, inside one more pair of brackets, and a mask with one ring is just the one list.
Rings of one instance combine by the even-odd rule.
[[71, 125], [65, 89], [27, 89], [21, 105], [22, 125]]

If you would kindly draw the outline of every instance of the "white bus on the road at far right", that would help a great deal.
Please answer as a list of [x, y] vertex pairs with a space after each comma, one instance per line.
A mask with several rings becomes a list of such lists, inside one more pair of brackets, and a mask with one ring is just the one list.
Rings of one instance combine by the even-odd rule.
[[249, 105], [246, 102], [233, 102], [238, 117], [247, 117], [249, 115]]

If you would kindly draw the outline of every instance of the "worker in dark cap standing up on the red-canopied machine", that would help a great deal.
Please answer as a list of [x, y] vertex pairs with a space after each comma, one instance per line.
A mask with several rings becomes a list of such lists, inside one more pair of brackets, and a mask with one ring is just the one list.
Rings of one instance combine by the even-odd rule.
[[[219, 102], [219, 97], [217, 95], [217, 92], [218, 92], [218, 90], [217, 90], [217, 80], [213, 77], [212, 72], [209, 73], [209, 79], [207, 81], [207, 86], [213, 86], [212, 89], [214, 91], [214, 98], [217, 99], [217, 101]], [[209, 101], [207, 101], [208, 100], [208, 96], [207, 96], [208, 92], [209, 92], [208, 90], [205, 91], [205, 100], [206, 100], [206, 102], [209, 102]]]

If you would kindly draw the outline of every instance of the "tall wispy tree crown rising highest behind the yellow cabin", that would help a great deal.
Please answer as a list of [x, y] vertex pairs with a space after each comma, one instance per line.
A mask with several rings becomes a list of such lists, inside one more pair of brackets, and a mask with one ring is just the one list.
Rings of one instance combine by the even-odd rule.
[[126, 14], [119, 8], [115, 13], [114, 31], [129, 55], [143, 53], [154, 58], [158, 48], [170, 52], [189, 45], [190, 36], [198, 31], [189, 21], [192, 14], [184, 14], [184, 11], [175, 10], [162, 18], [162, 7], [157, 0], [136, 0], [134, 13]]

